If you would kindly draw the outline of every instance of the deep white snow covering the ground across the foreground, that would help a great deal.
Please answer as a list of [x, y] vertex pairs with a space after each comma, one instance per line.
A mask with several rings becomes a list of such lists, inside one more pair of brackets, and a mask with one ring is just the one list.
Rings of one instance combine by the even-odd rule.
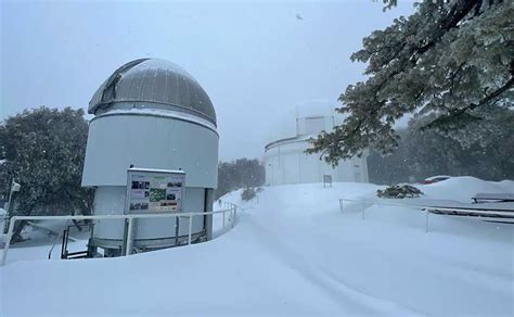
[[[123, 258], [14, 261], [0, 269], [1, 316], [474, 315], [514, 316], [514, 225], [374, 205], [340, 213], [367, 183], [241, 191], [234, 229], [191, 246]], [[471, 177], [420, 186], [470, 202], [514, 192]], [[48, 250], [48, 249], [47, 249]], [[16, 255], [10, 254], [16, 259]]]

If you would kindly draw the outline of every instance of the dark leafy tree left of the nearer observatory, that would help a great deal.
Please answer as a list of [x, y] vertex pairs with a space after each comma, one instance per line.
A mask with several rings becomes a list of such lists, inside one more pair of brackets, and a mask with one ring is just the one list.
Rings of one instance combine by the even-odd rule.
[[2, 191], [21, 183], [12, 215], [90, 214], [93, 193], [80, 187], [88, 123], [82, 110], [36, 110], [0, 125]]

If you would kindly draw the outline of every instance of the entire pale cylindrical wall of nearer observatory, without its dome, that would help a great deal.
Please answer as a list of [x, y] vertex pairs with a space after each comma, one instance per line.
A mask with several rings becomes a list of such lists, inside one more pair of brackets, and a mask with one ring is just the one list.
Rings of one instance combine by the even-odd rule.
[[[90, 124], [82, 186], [97, 187], [94, 214], [123, 214], [127, 169], [136, 167], [185, 172], [183, 212], [203, 212], [205, 189], [217, 187], [218, 135], [215, 130], [180, 117], [145, 114], [97, 116]], [[134, 225], [137, 240], [175, 237], [175, 218], [142, 219]], [[188, 219], [180, 219], [179, 236], [185, 236]], [[192, 233], [204, 228], [204, 217], [194, 217]], [[124, 221], [99, 220], [94, 238], [121, 240]]]

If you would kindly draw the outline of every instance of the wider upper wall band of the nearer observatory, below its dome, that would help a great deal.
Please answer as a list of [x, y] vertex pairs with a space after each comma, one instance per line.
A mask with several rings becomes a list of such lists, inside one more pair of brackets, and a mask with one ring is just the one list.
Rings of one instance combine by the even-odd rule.
[[216, 188], [218, 135], [179, 118], [116, 114], [89, 126], [82, 186], [126, 186], [127, 168], [179, 169], [187, 187]]

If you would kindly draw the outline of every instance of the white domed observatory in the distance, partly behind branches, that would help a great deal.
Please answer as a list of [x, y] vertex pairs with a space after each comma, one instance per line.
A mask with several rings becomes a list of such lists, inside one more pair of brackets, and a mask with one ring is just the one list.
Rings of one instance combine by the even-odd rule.
[[322, 182], [323, 175], [331, 175], [332, 181], [368, 182], [367, 155], [340, 161], [334, 168], [320, 161], [319, 155], [305, 153], [311, 147], [310, 138], [342, 122], [343, 117], [325, 102], [297, 106], [280, 121], [265, 147], [266, 185]]

